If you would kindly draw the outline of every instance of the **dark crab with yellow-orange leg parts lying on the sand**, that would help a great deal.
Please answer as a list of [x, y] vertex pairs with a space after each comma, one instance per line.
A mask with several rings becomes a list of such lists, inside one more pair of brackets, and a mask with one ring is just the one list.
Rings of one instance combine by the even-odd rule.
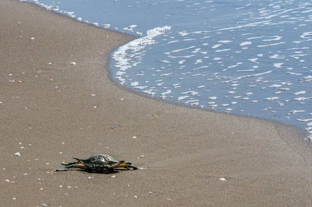
[[65, 167], [58, 168], [56, 171], [66, 171], [69, 168], [81, 168], [93, 173], [113, 173], [116, 168], [126, 168], [127, 170], [141, 169], [131, 165], [131, 162], [115, 160], [108, 154], [94, 154], [87, 159], [73, 159], [77, 160], [77, 162], [65, 163], [64, 161], [62, 165], [65, 165]]

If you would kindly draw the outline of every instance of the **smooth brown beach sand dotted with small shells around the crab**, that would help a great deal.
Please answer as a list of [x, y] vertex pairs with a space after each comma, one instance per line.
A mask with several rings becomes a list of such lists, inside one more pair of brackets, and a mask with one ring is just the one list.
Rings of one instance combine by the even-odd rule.
[[[132, 39], [0, 1], [1, 206], [312, 206], [299, 130], [119, 88], [108, 56]], [[147, 169], [46, 173], [95, 153]]]

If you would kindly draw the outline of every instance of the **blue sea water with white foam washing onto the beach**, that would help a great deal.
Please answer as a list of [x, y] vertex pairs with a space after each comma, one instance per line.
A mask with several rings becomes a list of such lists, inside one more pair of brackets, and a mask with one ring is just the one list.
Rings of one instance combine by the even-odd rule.
[[124, 87], [295, 125], [312, 139], [312, 1], [28, 2], [138, 36], [111, 55]]

